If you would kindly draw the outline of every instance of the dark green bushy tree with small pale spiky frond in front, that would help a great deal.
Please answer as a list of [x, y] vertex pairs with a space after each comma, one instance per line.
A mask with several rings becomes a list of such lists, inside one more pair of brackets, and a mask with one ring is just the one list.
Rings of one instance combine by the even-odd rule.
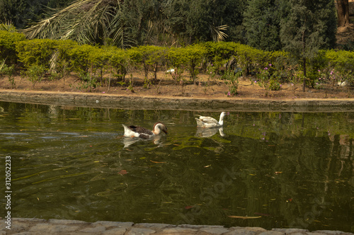
[[239, 40], [246, 0], [166, 1], [166, 28], [184, 42]]

